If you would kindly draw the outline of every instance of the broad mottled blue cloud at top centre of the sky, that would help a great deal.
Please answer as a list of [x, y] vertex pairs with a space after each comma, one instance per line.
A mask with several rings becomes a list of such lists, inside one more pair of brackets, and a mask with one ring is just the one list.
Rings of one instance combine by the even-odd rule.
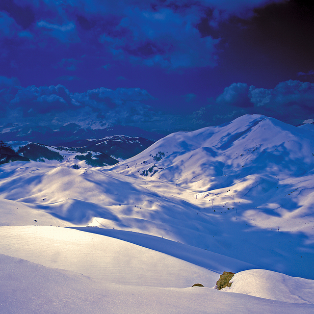
[[201, 38], [194, 25], [198, 16], [170, 8], [152, 11], [136, 7], [124, 12], [120, 24], [101, 36], [115, 57], [171, 69], [216, 65], [219, 40]]

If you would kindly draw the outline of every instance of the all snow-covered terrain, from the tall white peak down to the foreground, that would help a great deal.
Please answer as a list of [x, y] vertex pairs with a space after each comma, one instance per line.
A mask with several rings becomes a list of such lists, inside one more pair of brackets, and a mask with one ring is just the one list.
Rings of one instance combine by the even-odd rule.
[[[261, 115], [112, 166], [2, 164], [3, 313], [309, 313], [313, 196], [314, 127]], [[231, 288], [211, 289], [223, 271]]]

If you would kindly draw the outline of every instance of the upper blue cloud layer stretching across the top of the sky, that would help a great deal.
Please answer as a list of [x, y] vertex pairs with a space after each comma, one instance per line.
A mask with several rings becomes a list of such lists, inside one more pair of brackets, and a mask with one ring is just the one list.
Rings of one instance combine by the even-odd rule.
[[[166, 69], [214, 67], [221, 52], [227, 49], [226, 44], [233, 37], [241, 38], [235, 31], [246, 31], [242, 38], [246, 37], [247, 44], [254, 42], [257, 35], [257, 41], [264, 41], [267, 49], [275, 45], [276, 49], [282, 46], [291, 50], [289, 45], [297, 42], [304, 51], [304, 43], [314, 31], [314, 7], [303, 7], [300, 3], [296, 0], [64, 0], [61, 3], [2, 0], [0, 51], [2, 56], [12, 59], [14, 56], [7, 52], [14, 46], [39, 53], [51, 49], [57, 52], [62, 47], [63, 54], [68, 51], [72, 56], [60, 56], [59, 63], [63, 59], [75, 60], [75, 51], [82, 55], [97, 50], [110, 60], [126, 59], [133, 64]], [[298, 72], [310, 70], [313, 69]]]

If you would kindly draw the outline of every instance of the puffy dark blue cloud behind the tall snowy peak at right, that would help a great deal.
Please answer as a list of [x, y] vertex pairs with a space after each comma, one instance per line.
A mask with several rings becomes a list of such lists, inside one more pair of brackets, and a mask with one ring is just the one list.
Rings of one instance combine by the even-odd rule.
[[[298, 125], [314, 116], [314, 84], [288, 80], [273, 89], [266, 89], [253, 85], [249, 87], [246, 83], [233, 83], [217, 97], [216, 105], [219, 106], [219, 112], [233, 115], [258, 113]], [[213, 107], [215, 105], [212, 104]]]

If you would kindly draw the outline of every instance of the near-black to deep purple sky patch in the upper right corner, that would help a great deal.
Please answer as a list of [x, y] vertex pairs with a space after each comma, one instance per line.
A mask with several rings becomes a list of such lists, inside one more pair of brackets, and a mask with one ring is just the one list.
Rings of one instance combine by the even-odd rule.
[[231, 15], [220, 21], [216, 30], [222, 38], [217, 47], [222, 51], [221, 70], [229, 77], [245, 74], [245, 81], [268, 86], [313, 70], [313, 3], [271, 1], [254, 8], [249, 18]]

